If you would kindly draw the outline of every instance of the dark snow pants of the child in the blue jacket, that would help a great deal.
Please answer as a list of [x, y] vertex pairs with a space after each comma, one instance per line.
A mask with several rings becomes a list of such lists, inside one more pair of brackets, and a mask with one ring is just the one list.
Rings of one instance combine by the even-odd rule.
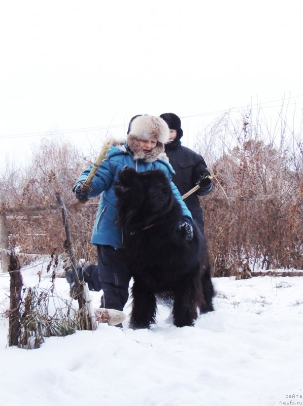
[[[103, 290], [100, 308], [123, 311], [128, 300], [130, 272], [121, 248], [97, 245], [97, 265], [78, 266], [89, 290]], [[82, 278], [81, 278], [82, 279]]]

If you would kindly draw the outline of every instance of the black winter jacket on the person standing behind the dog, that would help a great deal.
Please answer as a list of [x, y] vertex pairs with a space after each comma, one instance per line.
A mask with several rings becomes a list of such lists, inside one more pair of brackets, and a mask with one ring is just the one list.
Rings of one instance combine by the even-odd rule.
[[[181, 195], [183, 195], [192, 189], [199, 178], [205, 173], [207, 168], [205, 160], [201, 155], [181, 145], [181, 141], [178, 139], [169, 144], [165, 144], [165, 153], [169, 157], [170, 164], [176, 172], [176, 174], [173, 175], [173, 182], [179, 189]], [[199, 192], [199, 190], [200, 189], [192, 193], [184, 201], [193, 219], [196, 220], [203, 229], [203, 211], [198, 199], [199, 193], [203, 193]]]

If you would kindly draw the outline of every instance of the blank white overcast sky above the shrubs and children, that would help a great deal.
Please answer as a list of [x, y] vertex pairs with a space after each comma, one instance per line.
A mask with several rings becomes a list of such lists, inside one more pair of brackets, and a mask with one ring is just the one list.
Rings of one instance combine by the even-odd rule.
[[299, 0], [3, 1], [0, 157], [54, 130], [98, 143], [139, 113], [174, 112], [190, 137], [207, 113], [301, 109], [302, 18]]

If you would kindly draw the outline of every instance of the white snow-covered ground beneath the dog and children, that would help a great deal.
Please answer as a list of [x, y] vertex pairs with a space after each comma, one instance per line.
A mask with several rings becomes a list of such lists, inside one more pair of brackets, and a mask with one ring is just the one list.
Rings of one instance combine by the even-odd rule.
[[[37, 269], [22, 274], [25, 285], [38, 283]], [[303, 404], [302, 277], [215, 278], [215, 312], [194, 327], [167, 323], [169, 309], [159, 306], [150, 330], [99, 324], [50, 337], [36, 350], [7, 346], [9, 285], [9, 275], [0, 274], [1, 404]], [[68, 298], [68, 288], [57, 278], [58, 296]], [[100, 292], [92, 295], [98, 308]]]

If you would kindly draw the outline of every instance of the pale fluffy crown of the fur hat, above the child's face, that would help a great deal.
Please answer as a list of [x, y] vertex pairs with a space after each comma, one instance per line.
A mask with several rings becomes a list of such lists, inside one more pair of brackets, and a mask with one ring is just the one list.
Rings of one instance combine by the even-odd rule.
[[155, 138], [165, 144], [170, 138], [170, 129], [161, 117], [139, 116], [130, 123], [129, 134], [141, 140]]

